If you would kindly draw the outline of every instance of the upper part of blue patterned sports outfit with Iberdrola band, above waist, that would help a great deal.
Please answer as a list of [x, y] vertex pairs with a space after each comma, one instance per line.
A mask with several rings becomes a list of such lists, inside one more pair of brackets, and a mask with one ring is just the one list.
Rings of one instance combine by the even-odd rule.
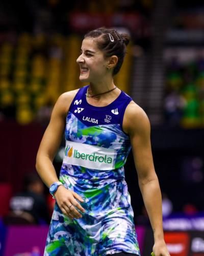
[[69, 175], [77, 178], [124, 178], [123, 166], [131, 145], [129, 136], [122, 131], [122, 121], [132, 99], [121, 92], [111, 104], [96, 107], [86, 100], [87, 88], [79, 90], [66, 118], [63, 166], [74, 165], [74, 172]]

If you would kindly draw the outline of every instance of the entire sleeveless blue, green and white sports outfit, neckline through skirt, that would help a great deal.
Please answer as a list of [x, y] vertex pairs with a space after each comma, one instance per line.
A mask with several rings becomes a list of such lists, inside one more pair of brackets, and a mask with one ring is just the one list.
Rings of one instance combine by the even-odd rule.
[[111, 104], [97, 107], [87, 102], [87, 89], [78, 91], [66, 117], [60, 171], [60, 181], [84, 199], [86, 212], [71, 220], [56, 203], [44, 255], [140, 255], [123, 167], [131, 144], [122, 121], [132, 99], [121, 92]]

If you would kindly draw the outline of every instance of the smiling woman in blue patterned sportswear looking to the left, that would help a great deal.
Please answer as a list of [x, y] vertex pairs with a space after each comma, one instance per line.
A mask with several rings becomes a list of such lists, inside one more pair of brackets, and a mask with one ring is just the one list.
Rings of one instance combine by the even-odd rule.
[[[131, 145], [139, 186], [154, 230], [156, 256], [169, 255], [161, 193], [144, 111], [113, 81], [129, 36], [99, 28], [85, 35], [80, 80], [57, 100], [37, 154], [39, 175], [56, 198], [44, 255], [140, 255], [123, 165]], [[65, 129], [60, 181], [53, 166]]]

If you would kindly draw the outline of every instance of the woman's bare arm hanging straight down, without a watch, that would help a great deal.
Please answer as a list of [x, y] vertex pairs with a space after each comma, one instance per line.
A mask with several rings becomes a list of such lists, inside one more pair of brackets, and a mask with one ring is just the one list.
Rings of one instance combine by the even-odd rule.
[[155, 256], [169, 256], [162, 225], [162, 197], [151, 153], [150, 123], [145, 112], [134, 102], [125, 111], [123, 130], [130, 135], [139, 187], [154, 232]]

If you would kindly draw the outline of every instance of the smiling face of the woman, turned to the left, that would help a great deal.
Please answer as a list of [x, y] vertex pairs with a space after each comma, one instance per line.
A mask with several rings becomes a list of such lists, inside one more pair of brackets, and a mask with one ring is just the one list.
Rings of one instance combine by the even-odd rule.
[[77, 59], [80, 65], [80, 81], [97, 83], [107, 73], [108, 58], [96, 46], [96, 39], [85, 38], [82, 42], [81, 55]]

